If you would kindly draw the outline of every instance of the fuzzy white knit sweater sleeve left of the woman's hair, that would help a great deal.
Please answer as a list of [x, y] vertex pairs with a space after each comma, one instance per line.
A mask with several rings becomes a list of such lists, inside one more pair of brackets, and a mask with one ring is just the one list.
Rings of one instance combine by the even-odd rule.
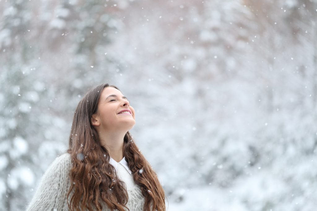
[[45, 171], [27, 211], [68, 210], [67, 193], [70, 187], [70, 154], [57, 157]]

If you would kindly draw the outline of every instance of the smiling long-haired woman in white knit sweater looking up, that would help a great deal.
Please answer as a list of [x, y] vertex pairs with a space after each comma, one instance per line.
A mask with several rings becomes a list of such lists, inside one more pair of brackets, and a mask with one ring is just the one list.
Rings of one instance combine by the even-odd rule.
[[129, 133], [134, 124], [117, 87], [90, 90], [75, 110], [67, 153], [45, 172], [27, 210], [165, 210], [158, 177]]

